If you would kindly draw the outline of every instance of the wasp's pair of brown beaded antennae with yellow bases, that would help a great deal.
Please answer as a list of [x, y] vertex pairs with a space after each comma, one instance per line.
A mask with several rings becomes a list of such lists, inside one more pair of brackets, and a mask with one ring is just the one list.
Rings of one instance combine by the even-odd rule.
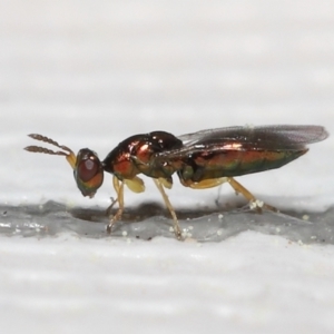
[[59, 145], [53, 139], [48, 138], [48, 137], [42, 136], [42, 135], [30, 134], [30, 135], [28, 135], [28, 137], [30, 137], [35, 140], [40, 140], [40, 141], [43, 141], [43, 143], [48, 143], [50, 145], [53, 145], [56, 147], [59, 147], [59, 148], [63, 149], [65, 151], [62, 151], [62, 150], [52, 150], [52, 149], [41, 147], [41, 146], [27, 146], [24, 148], [26, 150], [31, 151], [31, 153], [41, 153], [41, 154], [52, 155], [52, 156], [65, 156], [66, 159], [68, 160], [68, 163], [75, 169], [77, 158], [76, 158], [76, 155], [73, 154], [73, 151], [70, 148], [68, 148], [65, 145]]

